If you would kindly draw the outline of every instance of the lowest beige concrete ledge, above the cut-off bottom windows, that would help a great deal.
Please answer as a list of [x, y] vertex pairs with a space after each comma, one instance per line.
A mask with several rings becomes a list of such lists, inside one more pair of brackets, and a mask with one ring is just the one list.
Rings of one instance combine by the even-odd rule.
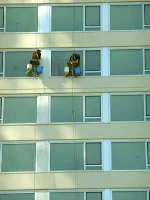
[[[76, 177], [76, 181], [75, 181]], [[149, 171], [0, 174], [0, 190], [150, 188]]]

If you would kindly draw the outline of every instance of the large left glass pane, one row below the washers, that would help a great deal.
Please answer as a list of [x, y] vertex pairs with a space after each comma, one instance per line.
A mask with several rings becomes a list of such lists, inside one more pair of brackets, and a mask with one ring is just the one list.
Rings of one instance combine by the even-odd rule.
[[4, 123], [36, 123], [36, 97], [4, 98]]

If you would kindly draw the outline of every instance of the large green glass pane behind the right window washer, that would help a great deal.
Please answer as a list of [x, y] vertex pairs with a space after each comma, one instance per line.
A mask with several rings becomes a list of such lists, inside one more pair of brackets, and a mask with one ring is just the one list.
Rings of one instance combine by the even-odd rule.
[[67, 62], [72, 55], [77, 53], [80, 55], [80, 68], [81, 76], [83, 75], [83, 51], [52, 51], [51, 53], [51, 75], [52, 76], [65, 76], [64, 67], [67, 66]]

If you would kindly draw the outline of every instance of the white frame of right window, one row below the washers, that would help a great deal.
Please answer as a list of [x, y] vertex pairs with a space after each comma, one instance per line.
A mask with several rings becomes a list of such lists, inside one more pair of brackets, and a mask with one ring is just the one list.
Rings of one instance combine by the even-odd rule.
[[[144, 120], [143, 121], [111, 121], [111, 96], [136, 96], [143, 95], [143, 103], [144, 103]], [[146, 122], [146, 95], [150, 95], [150, 92], [134, 92], [134, 93], [109, 93], [109, 121], [111, 123], [128, 123], [128, 122]], [[150, 118], [149, 116], [147, 118]]]

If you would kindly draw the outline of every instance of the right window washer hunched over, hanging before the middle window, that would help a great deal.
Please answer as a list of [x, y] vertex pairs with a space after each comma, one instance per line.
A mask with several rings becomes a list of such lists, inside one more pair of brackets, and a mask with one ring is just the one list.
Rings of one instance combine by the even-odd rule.
[[67, 62], [67, 65], [69, 67], [69, 69], [65, 71], [65, 75], [67, 76], [76, 76], [75, 74], [75, 68], [80, 66], [80, 55], [79, 54], [72, 54], [69, 61]]

